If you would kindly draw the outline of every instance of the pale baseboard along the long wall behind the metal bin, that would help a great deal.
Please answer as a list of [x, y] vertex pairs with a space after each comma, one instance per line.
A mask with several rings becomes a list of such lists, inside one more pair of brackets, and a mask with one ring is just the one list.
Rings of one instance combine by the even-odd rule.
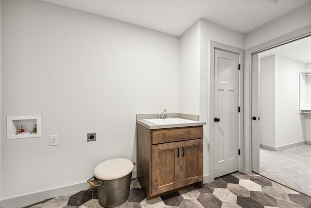
[[[137, 177], [137, 171], [133, 171], [132, 178]], [[62, 196], [69, 193], [83, 191], [92, 188], [86, 181], [59, 187], [56, 189], [50, 189], [46, 191], [35, 192], [27, 195], [17, 196], [13, 198], [3, 199], [0, 201], [0, 208], [21, 208], [26, 207], [37, 202], [41, 202], [46, 199], [54, 198], [56, 196]]]

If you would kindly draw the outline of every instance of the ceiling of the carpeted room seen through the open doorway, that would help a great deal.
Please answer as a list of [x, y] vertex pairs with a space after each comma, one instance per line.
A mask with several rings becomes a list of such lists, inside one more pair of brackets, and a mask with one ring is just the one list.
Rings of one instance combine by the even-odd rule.
[[302, 63], [311, 63], [311, 36], [260, 53], [260, 58], [281, 55]]

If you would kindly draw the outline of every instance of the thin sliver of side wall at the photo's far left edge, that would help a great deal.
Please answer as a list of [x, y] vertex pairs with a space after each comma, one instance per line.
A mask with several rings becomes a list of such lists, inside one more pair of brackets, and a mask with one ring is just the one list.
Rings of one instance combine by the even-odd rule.
[[[2, 0], [0, 0], [0, 118], [2, 118]], [[0, 135], [2, 135], [0, 119]], [[2, 187], [2, 139], [0, 139], [0, 201], [1, 201], [1, 187]]]

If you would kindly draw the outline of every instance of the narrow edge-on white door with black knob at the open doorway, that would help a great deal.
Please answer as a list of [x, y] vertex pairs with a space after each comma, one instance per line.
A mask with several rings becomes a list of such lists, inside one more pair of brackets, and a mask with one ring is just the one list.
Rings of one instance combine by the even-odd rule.
[[259, 53], [252, 55], [252, 171], [259, 173]]

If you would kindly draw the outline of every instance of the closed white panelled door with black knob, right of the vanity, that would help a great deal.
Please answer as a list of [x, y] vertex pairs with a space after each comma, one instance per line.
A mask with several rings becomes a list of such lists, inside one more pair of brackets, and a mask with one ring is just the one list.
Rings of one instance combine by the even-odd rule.
[[239, 170], [239, 54], [215, 49], [214, 178]]

